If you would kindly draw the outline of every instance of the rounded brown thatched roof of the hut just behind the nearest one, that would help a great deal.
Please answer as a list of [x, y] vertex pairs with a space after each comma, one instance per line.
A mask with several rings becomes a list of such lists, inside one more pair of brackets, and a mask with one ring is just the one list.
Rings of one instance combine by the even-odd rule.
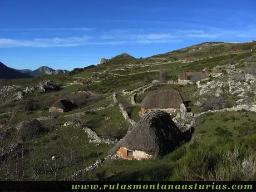
[[151, 91], [141, 102], [144, 109], [179, 109], [183, 98], [176, 90]]

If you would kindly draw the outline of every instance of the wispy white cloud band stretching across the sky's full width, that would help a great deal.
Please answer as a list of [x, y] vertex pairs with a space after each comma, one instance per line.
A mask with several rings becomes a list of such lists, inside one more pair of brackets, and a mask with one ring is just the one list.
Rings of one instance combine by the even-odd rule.
[[[50, 28], [48, 28], [50, 29]], [[64, 29], [64, 28], [63, 28]], [[71, 29], [71, 28], [70, 28]], [[76, 28], [72, 28], [75, 30]], [[60, 29], [61, 30], [61, 29]], [[86, 30], [85, 30], [86, 31]], [[149, 31], [146, 33], [146, 31]], [[156, 29], [113, 29], [107, 32], [98, 32], [93, 35], [14, 39], [0, 38], [0, 48], [7, 47], [75, 47], [86, 45], [145, 45], [152, 43], [171, 43], [186, 41], [189, 38], [199, 38], [202, 41], [230, 40], [237, 38], [256, 37], [255, 26], [249, 26], [241, 30], [225, 28], [206, 29], [173, 29], [157, 32]], [[88, 32], [89, 33], [89, 32]]]

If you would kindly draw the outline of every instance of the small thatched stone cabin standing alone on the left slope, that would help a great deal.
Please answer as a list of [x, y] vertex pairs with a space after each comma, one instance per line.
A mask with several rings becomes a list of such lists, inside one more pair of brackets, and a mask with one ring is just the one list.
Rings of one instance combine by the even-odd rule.
[[76, 105], [70, 100], [60, 99], [49, 108], [49, 112], [67, 112], [71, 111], [75, 107]]

